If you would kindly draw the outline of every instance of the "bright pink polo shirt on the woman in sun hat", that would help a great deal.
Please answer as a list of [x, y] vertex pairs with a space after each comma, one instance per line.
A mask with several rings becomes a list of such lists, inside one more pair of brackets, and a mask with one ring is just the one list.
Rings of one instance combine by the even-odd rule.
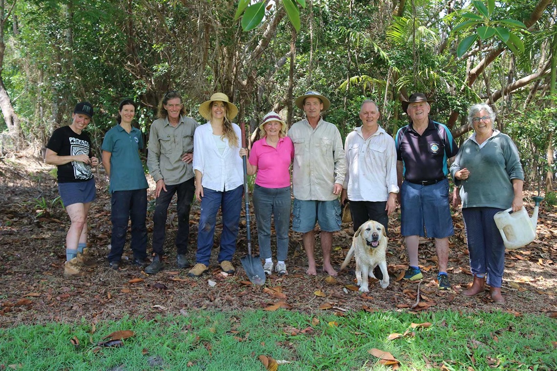
[[294, 145], [289, 137], [280, 138], [276, 148], [268, 145], [266, 138], [253, 143], [250, 164], [257, 166], [255, 184], [266, 188], [289, 187], [292, 159]]

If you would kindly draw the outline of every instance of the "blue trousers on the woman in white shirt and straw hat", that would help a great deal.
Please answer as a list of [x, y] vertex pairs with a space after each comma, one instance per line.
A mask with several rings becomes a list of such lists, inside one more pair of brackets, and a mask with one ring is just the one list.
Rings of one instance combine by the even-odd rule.
[[224, 192], [203, 187], [201, 216], [199, 216], [197, 231], [196, 263], [209, 265], [214, 240], [214, 226], [217, 221], [219, 207], [222, 212], [222, 233], [218, 262], [232, 260], [232, 256], [236, 251], [236, 237], [238, 236], [240, 224], [242, 192], [243, 186]]

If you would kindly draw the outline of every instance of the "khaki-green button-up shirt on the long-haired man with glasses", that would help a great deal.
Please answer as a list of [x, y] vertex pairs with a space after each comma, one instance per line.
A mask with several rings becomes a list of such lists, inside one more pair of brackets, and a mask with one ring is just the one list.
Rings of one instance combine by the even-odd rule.
[[176, 127], [167, 118], [153, 121], [149, 132], [147, 167], [149, 174], [158, 181], [174, 185], [194, 177], [190, 162], [182, 161], [182, 155], [193, 153], [193, 133], [199, 124], [193, 118], [180, 116]]

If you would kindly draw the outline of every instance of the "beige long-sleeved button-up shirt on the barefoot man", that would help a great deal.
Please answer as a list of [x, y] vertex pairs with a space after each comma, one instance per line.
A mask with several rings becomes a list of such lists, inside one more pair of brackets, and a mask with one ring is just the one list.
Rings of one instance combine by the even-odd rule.
[[335, 125], [320, 118], [311, 127], [307, 119], [294, 123], [288, 136], [294, 143], [292, 190], [299, 200], [332, 201], [335, 183], [343, 184], [346, 156], [340, 132]]

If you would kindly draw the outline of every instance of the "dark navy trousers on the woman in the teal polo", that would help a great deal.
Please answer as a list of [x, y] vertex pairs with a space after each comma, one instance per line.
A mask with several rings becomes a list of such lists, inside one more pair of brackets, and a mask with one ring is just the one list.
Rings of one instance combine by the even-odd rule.
[[111, 199], [112, 238], [109, 261], [120, 261], [126, 243], [128, 220], [131, 218], [131, 251], [135, 259], [147, 257], [147, 190], [115, 191]]

